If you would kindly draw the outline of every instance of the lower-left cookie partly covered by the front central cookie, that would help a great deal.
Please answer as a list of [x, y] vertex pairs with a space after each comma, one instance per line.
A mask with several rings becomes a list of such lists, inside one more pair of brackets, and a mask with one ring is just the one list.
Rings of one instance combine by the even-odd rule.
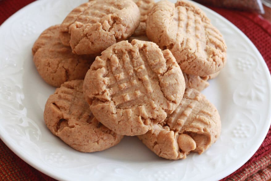
[[123, 136], [111, 131], [93, 116], [83, 95], [83, 80], [65, 82], [45, 105], [44, 121], [50, 131], [81, 152], [108, 149]]

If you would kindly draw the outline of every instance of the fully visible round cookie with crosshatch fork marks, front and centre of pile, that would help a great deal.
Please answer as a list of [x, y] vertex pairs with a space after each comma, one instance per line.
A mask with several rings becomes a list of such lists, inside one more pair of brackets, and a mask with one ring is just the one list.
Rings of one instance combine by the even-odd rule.
[[181, 102], [185, 81], [169, 50], [153, 42], [121, 41], [96, 57], [84, 80], [94, 116], [120, 135], [140, 135]]

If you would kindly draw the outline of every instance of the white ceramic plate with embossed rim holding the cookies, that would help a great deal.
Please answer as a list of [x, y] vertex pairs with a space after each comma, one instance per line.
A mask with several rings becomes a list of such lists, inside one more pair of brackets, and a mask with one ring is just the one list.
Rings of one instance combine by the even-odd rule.
[[45, 174], [75, 180], [219, 180], [242, 166], [270, 127], [270, 74], [258, 50], [229, 21], [200, 6], [222, 32], [227, 66], [203, 92], [218, 108], [222, 133], [202, 155], [185, 160], [159, 158], [136, 137], [98, 153], [80, 153], [53, 136], [43, 120], [55, 88], [39, 76], [31, 47], [40, 33], [59, 24], [86, 0], [40, 0], [0, 27], [0, 136], [24, 161]]

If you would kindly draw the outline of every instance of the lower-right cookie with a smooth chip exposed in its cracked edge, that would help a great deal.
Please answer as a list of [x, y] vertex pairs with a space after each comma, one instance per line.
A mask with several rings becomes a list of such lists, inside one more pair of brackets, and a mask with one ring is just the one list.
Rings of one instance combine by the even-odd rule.
[[218, 139], [221, 122], [218, 111], [206, 97], [187, 88], [177, 109], [140, 140], [159, 157], [177, 160], [190, 152], [203, 153]]

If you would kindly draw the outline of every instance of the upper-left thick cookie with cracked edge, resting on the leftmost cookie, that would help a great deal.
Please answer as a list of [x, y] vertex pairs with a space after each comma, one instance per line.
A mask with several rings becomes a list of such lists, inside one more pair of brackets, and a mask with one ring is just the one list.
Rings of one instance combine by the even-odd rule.
[[126, 40], [140, 23], [140, 11], [131, 0], [93, 0], [64, 19], [60, 39], [75, 54], [99, 54], [116, 42]]

